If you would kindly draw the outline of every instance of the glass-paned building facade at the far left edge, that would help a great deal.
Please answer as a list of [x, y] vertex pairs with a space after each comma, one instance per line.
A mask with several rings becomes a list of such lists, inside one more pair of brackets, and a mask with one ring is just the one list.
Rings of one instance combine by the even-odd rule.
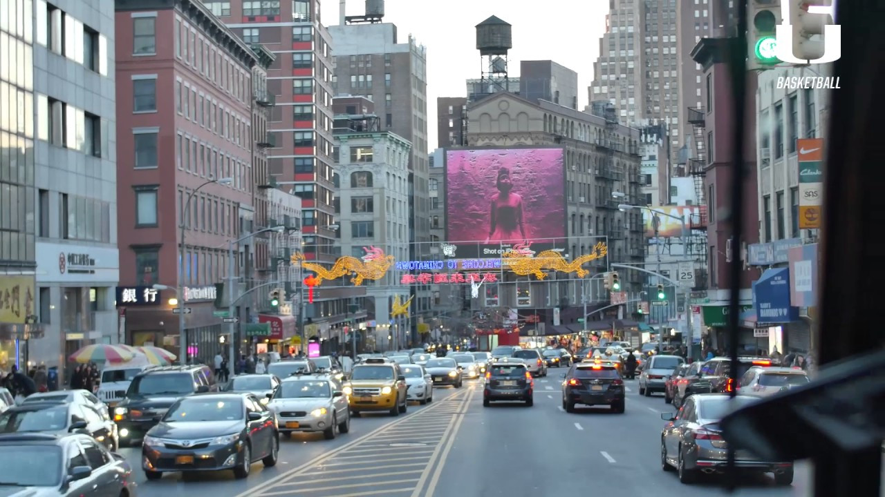
[[[27, 362], [39, 319], [35, 269], [34, 4], [0, 8], [0, 370]], [[43, 24], [45, 27], [45, 23]], [[59, 40], [61, 42], [61, 40]], [[21, 119], [19, 119], [21, 117]], [[28, 339], [26, 341], [26, 339]]]

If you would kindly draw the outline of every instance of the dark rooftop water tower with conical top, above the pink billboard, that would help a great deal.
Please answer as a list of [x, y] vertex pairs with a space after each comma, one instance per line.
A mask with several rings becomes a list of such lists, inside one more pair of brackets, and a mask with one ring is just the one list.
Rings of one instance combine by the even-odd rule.
[[476, 50], [482, 58], [481, 91], [475, 96], [489, 95], [510, 89], [507, 76], [507, 52], [513, 48], [512, 27], [496, 16], [476, 25]]

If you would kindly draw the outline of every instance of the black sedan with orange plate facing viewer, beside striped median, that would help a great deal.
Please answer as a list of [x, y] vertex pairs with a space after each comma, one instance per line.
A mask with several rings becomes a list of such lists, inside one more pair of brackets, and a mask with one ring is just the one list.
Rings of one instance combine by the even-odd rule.
[[276, 465], [276, 417], [253, 394], [197, 394], [176, 401], [142, 446], [142, 467], [155, 480], [170, 471], [233, 470], [246, 478], [252, 463]]

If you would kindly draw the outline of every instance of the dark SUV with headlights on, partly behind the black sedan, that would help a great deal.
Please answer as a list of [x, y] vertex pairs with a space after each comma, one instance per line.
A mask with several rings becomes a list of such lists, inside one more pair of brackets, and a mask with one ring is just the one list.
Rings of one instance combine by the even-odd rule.
[[163, 366], [142, 371], [132, 378], [126, 397], [113, 410], [121, 446], [142, 440], [181, 397], [218, 392], [212, 370], [205, 365]]

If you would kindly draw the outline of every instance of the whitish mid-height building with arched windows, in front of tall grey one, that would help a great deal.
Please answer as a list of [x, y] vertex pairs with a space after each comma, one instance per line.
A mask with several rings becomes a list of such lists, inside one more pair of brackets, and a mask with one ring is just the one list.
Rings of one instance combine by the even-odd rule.
[[[363, 103], [355, 109], [355, 101]], [[341, 185], [335, 211], [342, 253], [362, 258], [366, 248], [376, 247], [396, 261], [410, 260], [408, 164], [412, 145], [384, 129], [371, 102], [345, 97], [335, 98], [335, 146], [336, 176]], [[392, 304], [396, 296], [406, 301], [411, 290], [398, 276], [397, 271], [388, 271], [382, 279], [364, 282], [367, 302], [363, 309], [368, 325], [359, 326], [366, 330], [364, 347], [387, 349], [389, 334], [396, 333], [389, 326]], [[404, 344], [408, 337], [402, 332], [397, 343]]]

